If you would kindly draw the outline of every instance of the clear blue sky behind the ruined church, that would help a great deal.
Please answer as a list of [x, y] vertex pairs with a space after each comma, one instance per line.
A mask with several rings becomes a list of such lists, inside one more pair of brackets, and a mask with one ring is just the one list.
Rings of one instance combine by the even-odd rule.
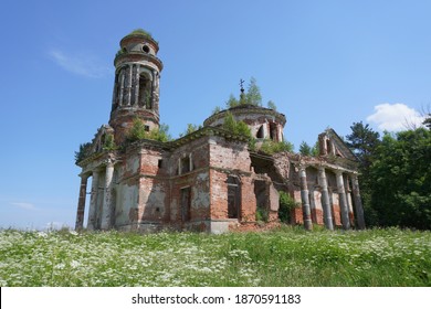
[[178, 137], [239, 81], [313, 145], [354, 121], [397, 131], [431, 103], [431, 1], [2, 1], [0, 227], [74, 226], [74, 151], [107, 124], [119, 40], [159, 42], [161, 121]]

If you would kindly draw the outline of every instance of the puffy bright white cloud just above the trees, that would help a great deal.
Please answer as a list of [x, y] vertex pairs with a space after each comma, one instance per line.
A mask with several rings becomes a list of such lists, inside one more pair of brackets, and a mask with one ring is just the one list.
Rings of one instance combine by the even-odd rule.
[[375, 113], [367, 117], [367, 121], [376, 124], [382, 131], [401, 131], [409, 127], [419, 127], [424, 117], [416, 109], [402, 103], [376, 105]]

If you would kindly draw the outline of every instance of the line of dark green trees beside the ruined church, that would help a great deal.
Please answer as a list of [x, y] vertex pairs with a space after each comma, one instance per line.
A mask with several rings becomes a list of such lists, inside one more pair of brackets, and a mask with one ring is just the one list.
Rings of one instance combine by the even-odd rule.
[[431, 228], [431, 115], [397, 134], [354, 122], [346, 143], [359, 160], [368, 226]]

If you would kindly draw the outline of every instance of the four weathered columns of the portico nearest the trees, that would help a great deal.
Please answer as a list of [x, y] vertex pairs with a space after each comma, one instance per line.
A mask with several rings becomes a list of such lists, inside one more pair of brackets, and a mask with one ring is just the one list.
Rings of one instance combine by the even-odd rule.
[[[341, 211], [341, 224], [344, 230], [350, 228], [350, 220], [349, 220], [349, 210], [347, 195], [344, 184], [343, 172], [339, 170], [335, 171], [336, 180], [337, 180], [337, 191], [339, 196], [339, 206]], [[305, 230], [312, 230], [312, 215], [311, 215], [311, 206], [309, 206], [309, 194], [307, 188], [307, 175], [305, 167], [299, 167], [299, 183], [301, 183], [301, 200], [302, 200], [302, 210], [303, 210], [303, 219], [304, 219], [304, 227]], [[334, 230], [333, 223], [333, 214], [330, 210], [330, 200], [329, 200], [329, 191], [328, 191], [328, 182], [326, 179], [326, 171], [324, 167], [318, 168], [318, 183], [320, 185], [322, 193], [322, 209], [324, 212], [324, 224], [328, 230]], [[359, 183], [356, 174], [351, 175], [351, 184], [354, 192], [354, 201], [355, 201], [355, 212], [356, 219], [359, 230], [365, 228], [365, 220], [364, 220], [364, 209], [362, 202], [359, 194]]]

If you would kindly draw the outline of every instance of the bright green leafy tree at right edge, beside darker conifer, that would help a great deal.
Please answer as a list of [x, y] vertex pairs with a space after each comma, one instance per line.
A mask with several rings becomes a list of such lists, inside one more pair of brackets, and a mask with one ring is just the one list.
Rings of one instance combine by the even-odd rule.
[[386, 134], [370, 169], [380, 225], [431, 228], [431, 131]]

